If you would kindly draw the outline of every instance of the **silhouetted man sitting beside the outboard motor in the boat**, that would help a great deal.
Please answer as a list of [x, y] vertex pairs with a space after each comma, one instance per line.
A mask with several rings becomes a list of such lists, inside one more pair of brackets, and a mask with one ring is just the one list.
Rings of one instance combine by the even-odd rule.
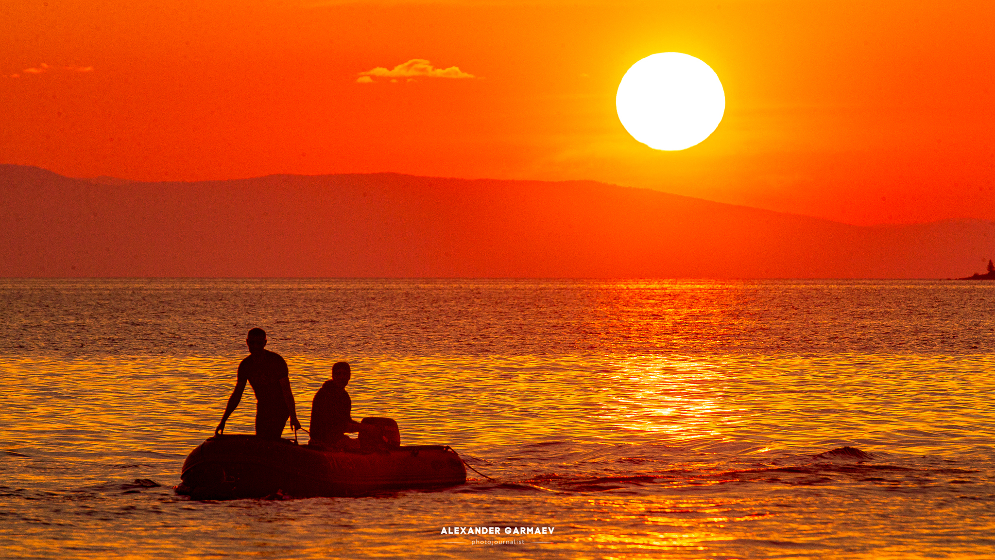
[[331, 379], [324, 382], [311, 404], [310, 441], [319, 447], [358, 449], [359, 441], [346, 435], [359, 431], [363, 424], [352, 420], [352, 400], [345, 392], [352, 371], [345, 362], [331, 367]]

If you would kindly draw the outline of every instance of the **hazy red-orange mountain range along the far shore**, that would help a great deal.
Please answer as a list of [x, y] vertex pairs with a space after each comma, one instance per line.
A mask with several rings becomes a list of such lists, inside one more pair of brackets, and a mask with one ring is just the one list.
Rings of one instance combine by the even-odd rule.
[[0, 276], [949, 278], [995, 221], [862, 227], [594, 181], [0, 164]]

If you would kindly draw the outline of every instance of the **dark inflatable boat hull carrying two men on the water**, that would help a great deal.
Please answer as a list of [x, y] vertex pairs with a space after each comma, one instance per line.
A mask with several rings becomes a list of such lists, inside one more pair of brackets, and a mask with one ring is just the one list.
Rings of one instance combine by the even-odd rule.
[[448, 445], [340, 450], [223, 434], [190, 452], [180, 478], [176, 493], [194, 499], [360, 496], [463, 484], [467, 469]]

